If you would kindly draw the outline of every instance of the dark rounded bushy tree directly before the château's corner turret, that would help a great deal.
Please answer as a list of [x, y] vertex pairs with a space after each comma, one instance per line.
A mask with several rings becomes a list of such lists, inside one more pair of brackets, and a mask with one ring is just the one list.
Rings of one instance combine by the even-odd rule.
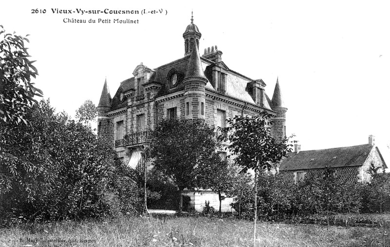
[[208, 163], [216, 145], [214, 127], [204, 120], [166, 119], [159, 122], [151, 155], [155, 169], [179, 189], [179, 213], [183, 208], [183, 190], [197, 186], [196, 167]]

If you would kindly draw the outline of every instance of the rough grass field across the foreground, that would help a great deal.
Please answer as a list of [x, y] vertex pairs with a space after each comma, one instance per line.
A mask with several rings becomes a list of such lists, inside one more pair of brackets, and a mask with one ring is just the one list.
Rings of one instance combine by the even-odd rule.
[[[20, 224], [0, 228], [0, 247], [252, 246], [253, 223], [205, 217], [119, 217], [105, 222]], [[258, 223], [257, 245], [390, 247], [389, 228]]]

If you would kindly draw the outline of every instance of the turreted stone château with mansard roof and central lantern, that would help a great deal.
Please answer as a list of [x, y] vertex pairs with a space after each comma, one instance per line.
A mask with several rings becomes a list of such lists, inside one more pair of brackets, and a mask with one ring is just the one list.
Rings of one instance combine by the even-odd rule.
[[155, 69], [141, 63], [113, 97], [104, 82], [98, 104], [98, 136], [125, 164], [137, 165], [140, 147], [163, 118], [202, 118], [224, 127], [225, 120], [236, 115], [266, 111], [273, 116], [269, 125], [274, 138], [281, 140], [286, 135], [287, 108], [278, 80], [270, 99], [264, 81], [229, 69], [217, 46], [204, 49], [200, 56], [201, 33], [193, 19], [183, 38], [184, 57]]

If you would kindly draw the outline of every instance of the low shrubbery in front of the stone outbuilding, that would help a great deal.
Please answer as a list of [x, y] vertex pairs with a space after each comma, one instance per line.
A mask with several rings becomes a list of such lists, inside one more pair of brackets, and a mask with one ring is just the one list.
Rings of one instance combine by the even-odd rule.
[[[360, 184], [346, 184], [332, 169], [308, 173], [296, 185], [279, 175], [261, 174], [257, 185], [257, 209], [269, 220], [315, 214], [327, 215], [329, 219], [335, 213], [360, 212], [363, 188]], [[253, 198], [248, 195], [247, 201], [253, 203]], [[244, 209], [244, 214], [249, 210]]]

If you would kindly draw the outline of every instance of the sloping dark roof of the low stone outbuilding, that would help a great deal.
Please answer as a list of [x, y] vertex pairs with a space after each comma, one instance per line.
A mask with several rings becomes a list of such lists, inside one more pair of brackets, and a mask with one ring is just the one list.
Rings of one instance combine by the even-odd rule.
[[[372, 145], [365, 144], [343, 148], [301, 151], [299, 153], [291, 152], [289, 157], [283, 159], [280, 163], [279, 171], [362, 166], [372, 148]], [[377, 148], [376, 150], [379, 152]]]

